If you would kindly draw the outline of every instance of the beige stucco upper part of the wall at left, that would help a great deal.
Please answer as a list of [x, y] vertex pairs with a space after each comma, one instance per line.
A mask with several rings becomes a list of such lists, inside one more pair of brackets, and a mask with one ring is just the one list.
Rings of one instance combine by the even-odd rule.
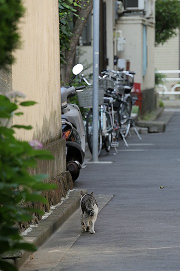
[[60, 136], [60, 65], [58, 0], [24, 0], [25, 16], [21, 20], [21, 48], [12, 65], [12, 89], [37, 104], [22, 108], [24, 115], [13, 123], [32, 125], [19, 129], [22, 140], [37, 139], [43, 145]]

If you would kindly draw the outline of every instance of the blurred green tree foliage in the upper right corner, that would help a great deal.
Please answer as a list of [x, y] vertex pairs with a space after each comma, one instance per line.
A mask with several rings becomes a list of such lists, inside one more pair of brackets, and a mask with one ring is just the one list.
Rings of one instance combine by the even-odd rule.
[[155, 1], [155, 45], [163, 44], [176, 36], [180, 27], [180, 2], [178, 0]]

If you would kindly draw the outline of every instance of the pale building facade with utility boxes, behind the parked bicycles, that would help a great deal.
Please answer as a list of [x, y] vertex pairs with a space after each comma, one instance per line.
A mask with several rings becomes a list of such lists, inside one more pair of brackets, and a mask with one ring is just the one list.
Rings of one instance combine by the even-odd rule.
[[[156, 106], [154, 38], [154, 0], [100, 0], [99, 72], [105, 68], [134, 71], [142, 94], [142, 114]], [[85, 52], [80, 61], [86, 59], [88, 64], [92, 64], [92, 32], [90, 40], [85, 44], [82, 39], [80, 47]]]

